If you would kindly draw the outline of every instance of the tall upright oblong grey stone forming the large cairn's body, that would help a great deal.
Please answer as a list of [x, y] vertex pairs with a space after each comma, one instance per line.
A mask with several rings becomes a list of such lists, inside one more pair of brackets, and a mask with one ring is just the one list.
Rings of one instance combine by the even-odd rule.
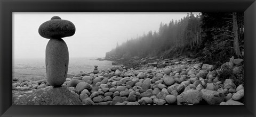
[[60, 87], [68, 73], [68, 47], [61, 38], [51, 39], [46, 46], [46, 76], [53, 87]]

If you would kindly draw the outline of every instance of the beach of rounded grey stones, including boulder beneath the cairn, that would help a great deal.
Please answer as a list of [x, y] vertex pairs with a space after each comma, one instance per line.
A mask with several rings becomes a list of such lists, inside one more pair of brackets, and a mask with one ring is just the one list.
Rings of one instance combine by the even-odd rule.
[[[133, 62], [131, 62], [133, 61]], [[13, 79], [14, 105], [243, 105], [243, 84], [221, 81], [231, 66], [242, 74], [243, 59], [227, 61], [219, 68], [197, 59], [138, 58], [114, 62], [108, 69], [67, 75], [61, 87], [46, 79]], [[130, 66], [127, 66], [130, 65]], [[131, 65], [134, 65], [133, 67]], [[93, 70], [94, 69], [94, 70]]]

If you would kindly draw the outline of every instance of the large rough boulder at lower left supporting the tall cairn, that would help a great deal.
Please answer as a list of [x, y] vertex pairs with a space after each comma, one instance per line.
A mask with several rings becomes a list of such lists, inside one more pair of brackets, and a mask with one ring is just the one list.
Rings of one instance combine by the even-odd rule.
[[81, 105], [79, 96], [67, 87], [46, 87], [13, 93], [14, 105]]

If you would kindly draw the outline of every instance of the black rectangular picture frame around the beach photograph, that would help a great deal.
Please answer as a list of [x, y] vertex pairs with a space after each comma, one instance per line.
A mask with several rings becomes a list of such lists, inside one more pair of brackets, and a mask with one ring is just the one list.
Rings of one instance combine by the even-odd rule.
[[[0, 116], [256, 116], [255, 0], [0, 0]], [[12, 105], [13, 12], [244, 12], [245, 105]]]

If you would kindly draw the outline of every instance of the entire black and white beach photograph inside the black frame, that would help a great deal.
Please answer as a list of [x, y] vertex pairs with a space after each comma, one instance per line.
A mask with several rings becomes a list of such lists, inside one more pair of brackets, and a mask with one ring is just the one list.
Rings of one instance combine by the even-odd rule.
[[244, 105], [243, 12], [13, 12], [12, 43], [13, 105]]

